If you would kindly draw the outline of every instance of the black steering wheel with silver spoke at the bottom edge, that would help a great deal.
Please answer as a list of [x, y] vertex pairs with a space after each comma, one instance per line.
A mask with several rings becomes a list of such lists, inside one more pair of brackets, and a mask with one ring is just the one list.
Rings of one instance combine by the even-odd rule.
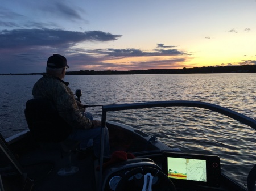
[[[176, 188], [172, 181], [162, 171], [159, 171], [158, 169], [152, 167], [138, 167], [127, 172], [126, 175], [123, 176], [122, 179], [118, 182], [115, 191], [130, 190], [131, 184], [129, 180], [131, 179], [131, 177], [139, 173], [144, 175], [143, 188], [140, 188], [139, 190], [152, 191], [154, 187], [157, 187], [155, 190], [176, 191]], [[158, 184], [152, 186], [153, 177], [158, 177]], [[136, 189], [133, 188], [133, 190]]]

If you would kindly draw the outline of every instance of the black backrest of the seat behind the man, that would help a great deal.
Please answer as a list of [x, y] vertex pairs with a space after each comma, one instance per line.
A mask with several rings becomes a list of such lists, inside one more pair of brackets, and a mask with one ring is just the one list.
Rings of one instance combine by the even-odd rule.
[[39, 142], [61, 142], [71, 133], [71, 126], [60, 117], [55, 105], [45, 98], [28, 100], [24, 111], [28, 128]]

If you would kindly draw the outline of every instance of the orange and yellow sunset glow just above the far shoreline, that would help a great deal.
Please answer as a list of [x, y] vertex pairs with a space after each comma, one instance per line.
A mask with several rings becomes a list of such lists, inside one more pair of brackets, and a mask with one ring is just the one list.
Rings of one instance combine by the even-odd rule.
[[[253, 57], [250, 57], [253, 58]], [[244, 60], [242, 60], [244, 59]], [[253, 59], [251, 59], [253, 60]], [[256, 59], [255, 59], [256, 60]], [[147, 56], [147, 57], [122, 57], [116, 59], [106, 59], [98, 61], [98, 64], [81, 64], [76, 65], [78, 70], [149, 70], [149, 69], [183, 69], [193, 67], [208, 67], [208, 66], [228, 66], [241, 65], [246, 63], [246, 57], [214, 57], [213, 55], [203, 56], [201, 53], [179, 56]], [[249, 60], [250, 61], [250, 60]], [[81, 62], [81, 61], [80, 61]], [[75, 70], [76, 70], [75, 69]]]

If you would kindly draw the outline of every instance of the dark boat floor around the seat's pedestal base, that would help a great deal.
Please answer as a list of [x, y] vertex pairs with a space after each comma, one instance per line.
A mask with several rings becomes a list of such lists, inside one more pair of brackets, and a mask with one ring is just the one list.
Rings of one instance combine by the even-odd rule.
[[59, 176], [58, 171], [65, 167], [66, 157], [59, 150], [35, 150], [20, 158], [20, 164], [28, 177], [34, 180], [35, 191], [51, 190], [96, 190], [94, 182], [93, 154], [71, 152], [72, 165], [79, 168], [73, 175]]

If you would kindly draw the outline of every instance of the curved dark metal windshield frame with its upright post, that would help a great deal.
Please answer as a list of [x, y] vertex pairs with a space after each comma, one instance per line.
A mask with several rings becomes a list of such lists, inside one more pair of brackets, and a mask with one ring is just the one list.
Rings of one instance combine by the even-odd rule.
[[[155, 107], [197, 107], [209, 109], [215, 111], [234, 120], [240, 121], [242, 124], [248, 125], [256, 130], [256, 120], [247, 117], [244, 114], [235, 112], [231, 109], [221, 107], [220, 105], [210, 104], [203, 101], [150, 101], [143, 103], [133, 103], [133, 104], [113, 104], [113, 105], [103, 105], [102, 106], [102, 116], [101, 122], [102, 127], [106, 125], [106, 113], [108, 111], [121, 111], [129, 109], [143, 109], [143, 108], [155, 108]], [[100, 176], [99, 176], [99, 190], [102, 189], [102, 165], [103, 165], [103, 151], [104, 151], [104, 128], [101, 131], [101, 154], [100, 154]]]

